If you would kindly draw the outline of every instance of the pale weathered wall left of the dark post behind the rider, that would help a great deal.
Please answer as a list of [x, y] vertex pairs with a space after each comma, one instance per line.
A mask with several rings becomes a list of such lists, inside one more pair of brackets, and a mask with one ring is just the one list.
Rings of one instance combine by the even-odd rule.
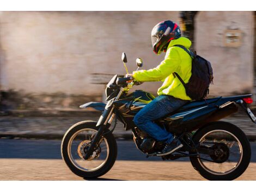
[[[150, 39], [151, 29], [162, 20], [178, 22], [178, 11], [1, 12], [2, 90], [30, 98], [50, 94], [40, 99], [48, 106], [56, 104], [59, 94], [99, 100], [105, 87], [92, 84], [90, 74], [124, 74], [122, 52], [130, 71], [138, 57], [148, 69], [163, 59], [153, 53]], [[159, 85], [139, 88], [156, 92]], [[72, 105], [60, 100], [61, 105], [63, 101]]]

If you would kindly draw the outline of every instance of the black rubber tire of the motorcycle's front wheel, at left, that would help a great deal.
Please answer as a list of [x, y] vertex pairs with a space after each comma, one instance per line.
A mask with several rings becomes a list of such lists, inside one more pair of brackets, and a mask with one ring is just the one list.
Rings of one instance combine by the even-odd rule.
[[61, 147], [62, 158], [65, 161], [66, 165], [68, 165], [69, 169], [74, 174], [86, 179], [92, 179], [92, 178], [96, 178], [106, 174], [108, 170], [110, 170], [113, 167], [115, 159], [117, 158], [117, 143], [115, 142], [115, 138], [113, 134], [109, 130], [107, 130], [105, 132], [108, 132], [108, 133], [105, 134], [104, 138], [106, 138], [106, 141], [109, 147], [109, 154], [108, 154], [106, 163], [103, 164], [102, 167], [94, 171], [84, 171], [77, 168], [76, 165], [72, 163], [71, 161], [72, 159], [69, 156], [69, 149], [68, 149], [69, 141], [71, 137], [77, 131], [81, 131], [83, 129], [89, 128], [89, 129], [97, 130], [98, 128], [96, 128], [96, 124], [97, 122], [94, 122], [94, 121], [83, 121], [83, 122], [76, 123], [73, 126], [71, 126], [71, 128], [65, 133], [62, 140], [62, 147]]

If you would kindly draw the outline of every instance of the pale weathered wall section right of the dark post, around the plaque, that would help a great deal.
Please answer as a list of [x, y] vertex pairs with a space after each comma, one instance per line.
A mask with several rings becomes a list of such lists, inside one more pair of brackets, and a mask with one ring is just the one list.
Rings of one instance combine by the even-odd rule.
[[[253, 90], [253, 11], [200, 11], [196, 16], [196, 50], [214, 68], [211, 95]], [[225, 30], [242, 32], [241, 46], [225, 47]]]

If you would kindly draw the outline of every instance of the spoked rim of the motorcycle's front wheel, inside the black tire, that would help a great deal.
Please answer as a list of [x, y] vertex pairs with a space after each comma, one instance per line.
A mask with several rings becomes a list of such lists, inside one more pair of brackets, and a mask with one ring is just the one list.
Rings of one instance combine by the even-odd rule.
[[[90, 157], [90, 160], [84, 160], [81, 157], [81, 152], [79, 152], [80, 150], [83, 150], [83, 145], [86, 145], [89, 141], [92, 141], [92, 137], [95, 136], [96, 132], [97, 131], [95, 129], [82, 129], [74, 133], [74, 135], [72, 135], [72, 137], [69, 139], [68, 156], [70, 161], [73, 165], [75, 165], [76, 168], [82, 171], [96, 171], [107, 162], [109, 156], [109, 146], [106, 138], [101, 139], [99, 145], [100, 153], [98, 157]], [[93, 155], [95, 155], [95, 153]]]

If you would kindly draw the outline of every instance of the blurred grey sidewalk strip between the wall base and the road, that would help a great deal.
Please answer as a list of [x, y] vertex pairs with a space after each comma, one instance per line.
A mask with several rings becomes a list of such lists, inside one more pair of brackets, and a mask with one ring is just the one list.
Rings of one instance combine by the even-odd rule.
[[[82, 120], [97, 120], [97, 114], [88, 117], [0, 117], [0, 138], [42, 138], [62, 139], [66, 130]], [[256, 124], [246, 114], [237, 113], [222, 119], [241, 128], [250, 140], [256, 140]], [[123, 124], [118, 122], [113, 132], [117, 138], [131, 139], [131, 130], [125, 131]]]

